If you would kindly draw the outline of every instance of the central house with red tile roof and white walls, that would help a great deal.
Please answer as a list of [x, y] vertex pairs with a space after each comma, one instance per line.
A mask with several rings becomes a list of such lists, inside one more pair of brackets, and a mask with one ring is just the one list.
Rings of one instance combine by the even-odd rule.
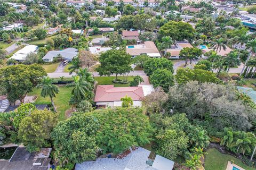
[[[97, 87], [94, 101], [99, 108], [122, 106], [121, 98], [125, 95], [133, 100], [133, 106], [141, 106], [141, 99], [153, 91], [153, 87], [143, 91], [143, 86], [139, 87], [114, 87], [114, 85], [99, 85]], [[147, 89], [147, 90], [146, 90]], [[144, 95], [145, 94], [145, 95]]]

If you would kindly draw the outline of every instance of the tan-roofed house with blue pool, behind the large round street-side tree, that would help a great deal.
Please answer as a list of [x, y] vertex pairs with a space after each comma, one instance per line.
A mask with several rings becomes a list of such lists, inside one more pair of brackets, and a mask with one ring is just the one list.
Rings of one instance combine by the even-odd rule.
[[161, 57], [153, 41], [145, 41], [142, 45], [126, 46], [126, 52], [135, 57], [147, 54], [149, 57]]

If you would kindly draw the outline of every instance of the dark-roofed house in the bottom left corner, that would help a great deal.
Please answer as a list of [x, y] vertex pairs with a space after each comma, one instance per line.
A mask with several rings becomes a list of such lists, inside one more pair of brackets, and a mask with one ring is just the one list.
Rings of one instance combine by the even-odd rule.
[[17, 148], [10, 160], [0, 160], [0, 170], [48, 170], [52, 148], [42, 148], [38, 152]]

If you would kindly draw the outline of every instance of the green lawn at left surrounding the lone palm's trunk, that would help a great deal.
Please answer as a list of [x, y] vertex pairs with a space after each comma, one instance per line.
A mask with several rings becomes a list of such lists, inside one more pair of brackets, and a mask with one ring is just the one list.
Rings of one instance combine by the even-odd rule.
[[[70, 108], [69, 106], [69, 99], [71, 97], [71, 89], [73, 89], [73, 87], [65, 87], [65, 86], [61, 86], [59, 87], [60, 91], [59, 94], [56, 95], [55, 98], [53, 98], [54, 104], [57, 108], [57, 112], [59, 113], [59, 120], [65, 120], [65, 111], [67, 111], [67, 109]], [[50, 97], [47, 98], [43, 98], [40, 96], [41, 94], [41, 88], [35, 88], [33, 90], [33, 92], [30, 92], [28, 95], [36, 95], [37, 99], [36, 102], [45, 102], [45, 101], [51, 101]]]

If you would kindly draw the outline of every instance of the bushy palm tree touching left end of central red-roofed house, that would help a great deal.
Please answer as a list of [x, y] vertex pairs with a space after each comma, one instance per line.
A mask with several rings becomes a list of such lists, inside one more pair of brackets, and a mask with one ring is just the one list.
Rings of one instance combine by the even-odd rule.
[[74, 87], [71, 94], [74, 96], [75, 103], [79, 103], [86, 97], [93, 96], [93, 86], [90, 82], [82, 79], [81, 77], [73, 76], [74, 82], [67, 84], [67, 87]]

